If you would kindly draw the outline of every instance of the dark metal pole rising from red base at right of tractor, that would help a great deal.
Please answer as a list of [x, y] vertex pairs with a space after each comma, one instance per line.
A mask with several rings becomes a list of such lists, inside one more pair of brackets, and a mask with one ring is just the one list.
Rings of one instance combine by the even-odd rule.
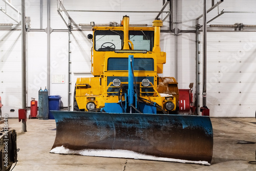
[[206, 66], [207, 66], [207, 0], [203, 3], [203, 106], [206, 106]]

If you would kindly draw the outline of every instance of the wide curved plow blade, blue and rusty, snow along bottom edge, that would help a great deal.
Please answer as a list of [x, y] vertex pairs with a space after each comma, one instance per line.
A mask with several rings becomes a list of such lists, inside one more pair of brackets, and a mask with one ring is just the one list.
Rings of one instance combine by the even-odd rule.
[[213, 134], [207, 116], [52, 111], [51, 153], [209, 165]]

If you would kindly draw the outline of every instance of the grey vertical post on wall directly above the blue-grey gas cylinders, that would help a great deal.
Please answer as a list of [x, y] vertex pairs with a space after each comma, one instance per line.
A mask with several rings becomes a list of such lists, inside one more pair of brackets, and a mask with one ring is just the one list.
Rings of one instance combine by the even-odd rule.
[[51, 50], [51, 20], [50, 20], [50, 5], [51, 1], [47, 0], [47, 89], [48, 89], [48, 94], [50, 95], [50, 76], [51, 76], [51, 68], [50, 68], [50, 50]]

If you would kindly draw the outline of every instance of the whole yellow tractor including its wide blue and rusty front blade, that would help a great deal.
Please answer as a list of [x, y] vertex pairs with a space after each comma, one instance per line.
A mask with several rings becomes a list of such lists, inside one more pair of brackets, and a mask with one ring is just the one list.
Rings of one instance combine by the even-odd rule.
[[51, 153], [211, 162], [209, 117], [179, 115], [176, 79], [158, 76], [166, 60], [161, 26], [131, 26], [123, 16], [120, 26], [92, 28], [94, 77], [77, 78], [73, 112], [52, 112]]

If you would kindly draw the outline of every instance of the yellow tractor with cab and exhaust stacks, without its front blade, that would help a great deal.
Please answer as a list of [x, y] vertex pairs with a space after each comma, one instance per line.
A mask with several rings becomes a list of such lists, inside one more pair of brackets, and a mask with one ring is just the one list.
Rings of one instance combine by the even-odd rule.
[[[166, 53], [161, 52], [159, 46], [162, 22], [156, 20], [153, 26], [129, 27], [129, 17], [125, 16], [123, 26], [93, 28], [94, 35], [88, 37], [94, 44], [94, 77], [77, 78], [75, 111], [129, 112], [130, 106], [125, 108], [122, 104], [125, 102], [124, 93], [127, 93], [126, 87], [129, 84], [128, 56], [133, 55], [135, 81], [132, 75], [131, 83], [136, 84], [135, 101], [140, 109], [138, 111], [178, 113], [178, 83], [173, 77], [159, 78], [157, 75], [163, 72], [163, 63], [166, 59]], [[155, 107], [152, 107], [151, 103], [155, 103]], [[145, 110], [150, 111], [142, 110], [148, 105]], [[137, 111], [135, 108], [132, 110]]]

